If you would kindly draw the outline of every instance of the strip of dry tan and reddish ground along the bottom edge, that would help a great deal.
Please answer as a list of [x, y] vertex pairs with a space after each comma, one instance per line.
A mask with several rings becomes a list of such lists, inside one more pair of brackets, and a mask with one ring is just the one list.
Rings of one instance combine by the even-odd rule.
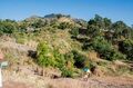
[[16, 74], [3, 71], [4, 88], [133, 88], [133, 77], [92, 77], [88, 81], [81, 78], [41, 77], [32, 74], [30, 68]]

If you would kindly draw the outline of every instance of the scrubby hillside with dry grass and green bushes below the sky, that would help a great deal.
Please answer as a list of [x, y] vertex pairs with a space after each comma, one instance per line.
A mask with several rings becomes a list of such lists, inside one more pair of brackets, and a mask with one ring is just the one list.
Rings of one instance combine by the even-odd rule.
[[[91, 82], [91, 88], [133, 87], [133, 28], [123, 21], [112, 22], [99, 14], [86, 21], [60, 13], [0, 20], [0, 49], [9, 62], [3, 69], [6, 84], [24, 82], [28, 88], [75, 88], [76, 82], [76, 88], [88, 88]], [[91, 70], [88, 81], [82, 80], [84, 68]], [[71, 81], [74, 85], [66, 86]]]

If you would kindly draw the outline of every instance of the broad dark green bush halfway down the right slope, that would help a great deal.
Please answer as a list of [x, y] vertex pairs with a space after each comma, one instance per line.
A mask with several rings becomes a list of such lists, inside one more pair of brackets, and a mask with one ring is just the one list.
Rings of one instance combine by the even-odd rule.
[[124, 59], [124, 55], [113, 48], [103, 37], [96, 37], [89, 45], [84, 46], [84, 49], [94, 49], [100, 53], [100, 57], [106, 60]]

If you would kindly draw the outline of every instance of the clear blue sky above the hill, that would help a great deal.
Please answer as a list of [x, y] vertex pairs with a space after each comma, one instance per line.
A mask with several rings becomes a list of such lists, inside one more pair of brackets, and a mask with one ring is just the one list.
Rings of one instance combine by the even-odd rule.
[[89, 20], [95, 13], [133, 25], [133, 0], [0, 0], [0, 19], [66, 13]]

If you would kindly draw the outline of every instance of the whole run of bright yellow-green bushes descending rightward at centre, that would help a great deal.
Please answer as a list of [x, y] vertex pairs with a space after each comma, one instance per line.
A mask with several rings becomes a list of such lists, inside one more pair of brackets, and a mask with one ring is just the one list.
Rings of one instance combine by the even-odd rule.
[[73, 77], [72, 67], [66, 67], [66, 61], [72, 61], [73, 66], [73, 57], [71, 53], [63, 56], [58, 50], [52, 50], [47, 42], [39, 43], [37, 62], [41, 67], [57, 67], [62, 71], [63, 77]]

